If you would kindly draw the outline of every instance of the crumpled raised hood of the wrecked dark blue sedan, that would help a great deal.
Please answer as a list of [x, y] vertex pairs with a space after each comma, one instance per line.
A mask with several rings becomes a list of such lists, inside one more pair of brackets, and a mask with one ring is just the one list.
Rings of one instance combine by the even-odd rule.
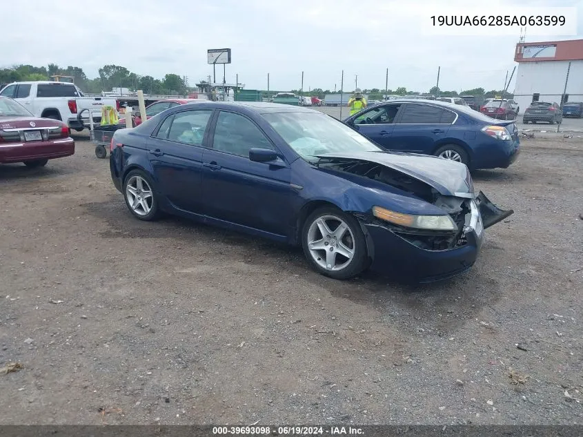
[[326, 153], [319, 158], [360, 159], [375, 162], [393, 170], [415, 177], [433, 186], [442, 195], [473, 193], [470, 172], [465, 164], [429, 155], [398, 152], [348, 152]]

